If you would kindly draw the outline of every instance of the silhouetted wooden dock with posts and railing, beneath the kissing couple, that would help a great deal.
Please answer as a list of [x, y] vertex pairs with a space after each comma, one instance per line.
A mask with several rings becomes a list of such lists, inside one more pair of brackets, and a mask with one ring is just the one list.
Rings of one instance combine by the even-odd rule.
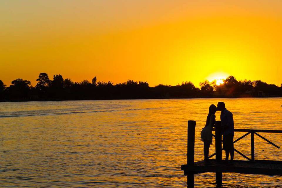
[[209, 158], [216, 156], [215, 160], [210, 160], [211, 164], [205, 164], [204, 161], [194, 162], [194, 145], [195, 145], [195, 121], [188, 121], [187, 132], [187, 164], [181, 166], [181, 170], [184, 171], [184, 175], [187, 176], [187, 187], [194, 188], [194, 174], [215, 172], [216, 184], [218, 187], [222, 184], [222, 173], [240, 173], [240, 174], [263, 174], [263, 175], [279, 175], [282, 176], [282, 161], [270, 161], [270, 160], [255, 160], [254, 150], [254, 135], [262, 138], [266, 142], [270, 143], [274, 147], [280, 149], [279, 146], [269, 141], [265, 137], [259, 135], [259, 132], [272, 132], [282, 133], [282, 130], [254, 130], [254, 129], [235, 129], [235, 132], [246, 132], [233, 142], [238, 142], [242, 138], [251, 134], [251, 158], [247, 157], [240, 151], [234, 148], [237, 152], [246, 160], [234, 160], [233, 163], [226, 163], [222, 160], [222, 136], [221, 136], [221, 122], [216, 121], [215, 130], [215, 150], [216, 153], [209, 156]]

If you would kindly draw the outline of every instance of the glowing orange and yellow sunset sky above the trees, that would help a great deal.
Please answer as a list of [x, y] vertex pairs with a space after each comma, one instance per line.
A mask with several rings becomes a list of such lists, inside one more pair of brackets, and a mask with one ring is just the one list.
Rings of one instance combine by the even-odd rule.
[[[0, 80], [282, 82], [281, 0], [0, 1]], [[279, 77], [279, 78], [278, 78]]]

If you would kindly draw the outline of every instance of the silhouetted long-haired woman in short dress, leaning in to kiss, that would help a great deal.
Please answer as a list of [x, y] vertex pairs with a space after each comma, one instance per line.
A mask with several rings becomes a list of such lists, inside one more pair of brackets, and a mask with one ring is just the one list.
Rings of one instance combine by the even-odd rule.
[[209, 146], [212, 144], [212, 127], [215, 125], [216, 106], [209, 106], [206, 125], [201, 132], [201, 140], [204, 142], [204, 161], [209, 163]]

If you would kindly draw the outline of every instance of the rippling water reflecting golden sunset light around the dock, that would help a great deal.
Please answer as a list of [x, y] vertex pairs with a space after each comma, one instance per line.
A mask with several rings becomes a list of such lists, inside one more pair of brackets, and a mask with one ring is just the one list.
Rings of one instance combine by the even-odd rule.
[[[282, 130], [282, 98], [0, 103], [0, 187], [187, 187], [180, 170], [187, 120], [197, 121], [195, 161], [202, 160], [200, 130], [218, 101], [233, 113], [235, 128]], [[261, 135], [282, 146], [282, 134]], [[250, 157], [250, 136], [234, 147]], [[256, 135], [255, 154], [282, 160], [281, 150]], [[214, 182], [214, 173], [195, 175], [195, 187]], [[225, 173], [223, 184], [282, 187], [282, 177]]]

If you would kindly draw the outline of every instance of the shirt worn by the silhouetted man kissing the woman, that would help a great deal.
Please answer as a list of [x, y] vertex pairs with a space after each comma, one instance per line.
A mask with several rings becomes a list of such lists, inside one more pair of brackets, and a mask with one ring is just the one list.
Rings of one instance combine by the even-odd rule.
[[234, 120], [233, 114], [226, 108], [220, 114], [221, 120], [221, 133], [222, 135], [232, 134], [234, 135]]

